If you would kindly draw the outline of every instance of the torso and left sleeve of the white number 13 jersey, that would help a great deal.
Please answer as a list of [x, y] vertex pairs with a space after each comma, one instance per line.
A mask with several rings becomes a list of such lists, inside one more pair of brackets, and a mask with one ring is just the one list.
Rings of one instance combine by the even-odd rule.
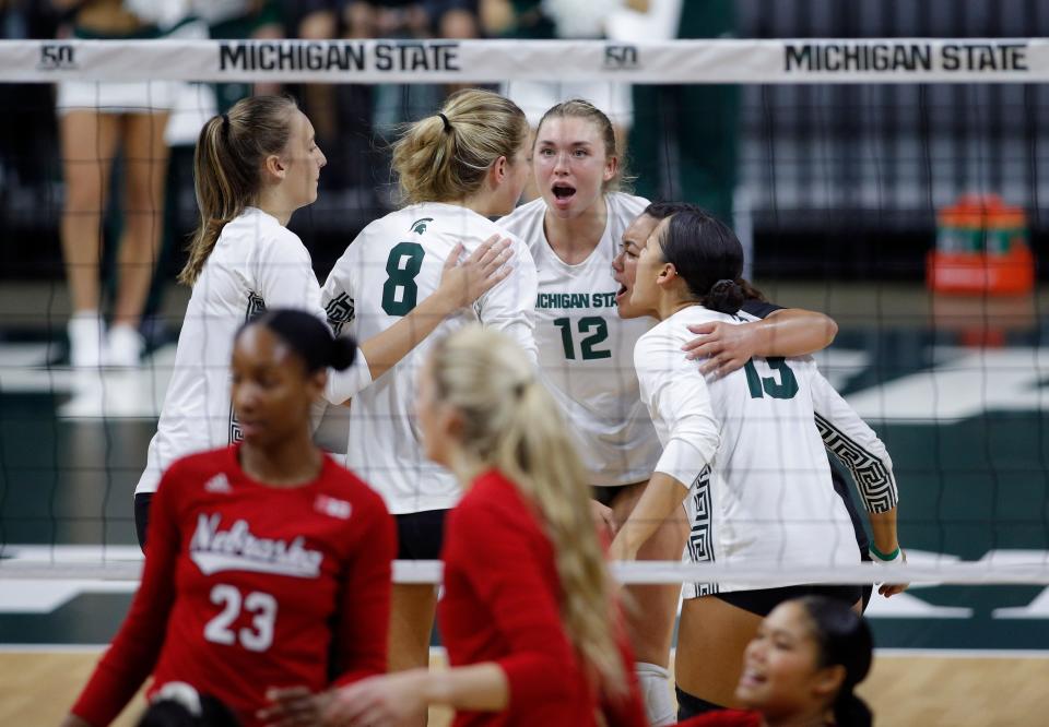
[[[705, 379], [681, 350], [694, 337], [688, 325], [752, 320], [691, 306], [657, 324], [635, 349], [641, 397], [664, 448], [656, 470], [691, 487], [685, 560], [791, 568], [858, 563], [852, 523], [834, 491], [816, 429], [815, 362], [754, 358], [722, 378]], [[800, 583], [686, 583], [684, 596]]]

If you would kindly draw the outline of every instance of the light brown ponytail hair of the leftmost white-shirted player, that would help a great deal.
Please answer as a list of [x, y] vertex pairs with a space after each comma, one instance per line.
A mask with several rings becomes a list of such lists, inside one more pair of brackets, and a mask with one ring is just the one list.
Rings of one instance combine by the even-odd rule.
[[228, 114], [212, 117], [200, 130], [193, 153], [200, 225], [189, 242], [179, 283], [197, 282], [222, 228], [255, 202], [262, 187], [262, 164], [284, 151], [297, 108], [287, 96], [252, 96], [234, 104]]

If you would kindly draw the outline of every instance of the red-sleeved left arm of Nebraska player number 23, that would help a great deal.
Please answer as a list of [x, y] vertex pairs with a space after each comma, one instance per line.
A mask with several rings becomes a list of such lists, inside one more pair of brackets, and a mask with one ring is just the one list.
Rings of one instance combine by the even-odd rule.
[[[180, 539], [176, 524], [173, 465], [161, 480], [150, 509], [150, 538], [142, 582], [113, 645], [98, 662], [63, 725], [108, 725], [131, 701], [153, 670], [175, 603], [175, 562]], [[168, 484], [170, 482], [170, 484]], [[165, 484], [168, 484], [165, 487]]]

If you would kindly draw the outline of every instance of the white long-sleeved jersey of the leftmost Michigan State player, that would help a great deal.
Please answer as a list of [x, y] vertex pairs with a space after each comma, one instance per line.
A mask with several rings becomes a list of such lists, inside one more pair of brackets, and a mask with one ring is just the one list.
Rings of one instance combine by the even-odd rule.
[[[175, 460], [243, 439], [229, 401], [233, 337], [267, 308], [297, 308], [323, 317], [320, 285], [302, 240], [275, 217], [248, 207], [222, 228], [193, 284], [137, 493], [155, 492]], [[363, 371], [366, 378], [367, 364], [362, 360], [351, 371]], [[344, 388], [354, 376], [341, 374]]]

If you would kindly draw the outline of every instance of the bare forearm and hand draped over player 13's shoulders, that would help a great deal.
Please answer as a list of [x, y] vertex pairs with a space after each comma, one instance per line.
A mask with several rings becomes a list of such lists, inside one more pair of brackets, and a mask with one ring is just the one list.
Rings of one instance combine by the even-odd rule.
[[705, 358], [704, 373], [731, 373], [755, 356], [808, 356], [834, 342], [834, 319], [801, 308], [747, 301], [743, 310], [763, 319], [739, 325], [710, 322], [688, 326], [698, 337], [684, 345], [688, 358]]

